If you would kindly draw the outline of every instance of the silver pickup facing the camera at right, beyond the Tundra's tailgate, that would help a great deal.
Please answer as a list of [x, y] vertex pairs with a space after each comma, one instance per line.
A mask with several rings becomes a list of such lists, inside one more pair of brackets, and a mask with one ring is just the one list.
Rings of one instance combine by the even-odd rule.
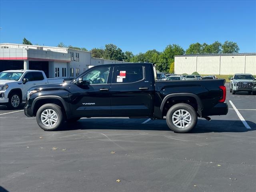
[[234, 74], [230, 79], [230, 92], [236, 94], [239, 91], [248, 91], [256, 95], [256, 78], [252, 74]]

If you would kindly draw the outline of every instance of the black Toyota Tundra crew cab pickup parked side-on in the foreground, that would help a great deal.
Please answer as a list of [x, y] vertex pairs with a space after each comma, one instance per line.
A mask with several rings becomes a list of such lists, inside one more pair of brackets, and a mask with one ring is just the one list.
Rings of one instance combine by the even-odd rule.
[[188, 132], [197, 118], [226, 115], [225, 80], [157, 81], [151, 63], [104, 64], [70, 83], [35, 86], [27, 93], [26, 116], [43, 130], [81, 117], [163, 119], [174, 132]]

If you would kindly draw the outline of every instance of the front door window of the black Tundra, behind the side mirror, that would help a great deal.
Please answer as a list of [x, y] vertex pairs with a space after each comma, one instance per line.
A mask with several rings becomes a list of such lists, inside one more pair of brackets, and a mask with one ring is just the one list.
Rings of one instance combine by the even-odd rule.
[[90, 84], [106, 84], [108, 82], [108, 74], [110, 67], [97, 68], [86, 73], [82, 78]]

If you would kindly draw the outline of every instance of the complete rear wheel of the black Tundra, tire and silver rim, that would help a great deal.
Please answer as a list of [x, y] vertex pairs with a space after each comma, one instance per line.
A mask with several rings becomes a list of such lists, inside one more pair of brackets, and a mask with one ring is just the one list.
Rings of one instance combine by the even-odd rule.
[[197, 115], [194, 108], [185, 103], [172, 106], [166, 114], [168, 127], [177, 133], [190, 131], [197, 123]]

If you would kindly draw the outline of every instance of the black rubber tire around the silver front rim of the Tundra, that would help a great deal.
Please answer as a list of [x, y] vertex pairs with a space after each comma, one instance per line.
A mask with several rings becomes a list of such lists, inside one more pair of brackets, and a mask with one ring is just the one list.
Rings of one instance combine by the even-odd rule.
[[[57, 115], [57, 122], [56, 124], [54, 124], [53, 126], [46, 126], [43, 124], [42, 120], [41, 120], [41, 115], [42, 113], [49, 109], [50, 111], [53, 110], [54, 112], [56, 112], [56, 115]], [[53, 114], [53, 113], [52, 113]], [[56, 116], [55, 116], [56, 117]], [[44, 118], [44, 117], [43, 117]], [[44, 119], [46, 120], [47, 117]], [[64, 122], [64, 117], [63, 117], [63, 114], [62, 114], [62, 111], [61, 111], [61, 107], [56, 105], [56, 104], [44, 104], [42, 105], [38, 111], [36, 112], [36, 122], [37, 124], [40, 126], [40, 128], [42, 128], [43, 130], [45, 131], [54, 131], [54, 130], [57, 130], [58, 128], [60, 128]]]

